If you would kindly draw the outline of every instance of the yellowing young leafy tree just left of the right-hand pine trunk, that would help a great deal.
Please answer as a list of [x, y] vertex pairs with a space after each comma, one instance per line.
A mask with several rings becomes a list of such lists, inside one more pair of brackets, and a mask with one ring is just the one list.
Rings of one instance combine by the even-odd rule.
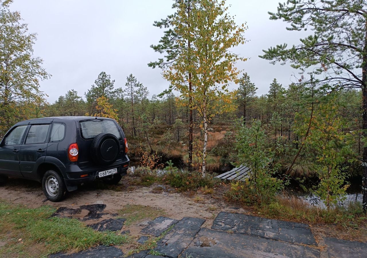
[[[356, 131], [345, 131], [348, 122], [337, 116], [337, 94], [329, 94], [314, 112], [307, 147], [315, 153], [320, 183], [315, 190], [327, 208], [345, 199], [348, 163], [355, 161], [353, 144]], [[346, 162], [348, 161], [348, 162]]]

